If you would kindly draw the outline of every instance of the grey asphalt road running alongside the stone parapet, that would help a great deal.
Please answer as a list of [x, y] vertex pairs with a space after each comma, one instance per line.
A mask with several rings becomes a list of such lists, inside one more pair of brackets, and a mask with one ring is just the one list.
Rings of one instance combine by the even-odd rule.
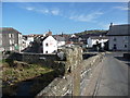
[[94, 96], [128, 96], [128, 70], [130, 61], [122, 58], [122, 52], [106, 53], [100, 63]]

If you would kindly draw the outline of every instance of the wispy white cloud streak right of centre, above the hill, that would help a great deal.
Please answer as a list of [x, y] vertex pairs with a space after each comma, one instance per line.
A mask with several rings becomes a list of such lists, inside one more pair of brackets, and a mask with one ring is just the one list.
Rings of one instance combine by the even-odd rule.
[[102, 14], [103, 14], [102, 12], [93, 12], [90, 14], [80, 14], [80, 15], [73, 14], [69, 19], [80, 22], [94, 22], [94, 20]]

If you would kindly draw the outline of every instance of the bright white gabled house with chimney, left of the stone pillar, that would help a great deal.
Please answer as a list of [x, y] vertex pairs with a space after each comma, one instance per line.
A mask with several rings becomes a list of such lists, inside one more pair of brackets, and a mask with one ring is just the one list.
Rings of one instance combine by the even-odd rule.
[[42, 49], [43, 53], [54, 53], [57, 51], [57, 41], [52, 37], [51, 32], [42, 39]]

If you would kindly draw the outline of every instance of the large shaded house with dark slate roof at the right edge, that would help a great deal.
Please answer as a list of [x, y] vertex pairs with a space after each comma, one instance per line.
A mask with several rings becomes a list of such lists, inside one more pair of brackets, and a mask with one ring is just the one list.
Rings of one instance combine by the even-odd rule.
[[109, 50], [130, 50], [130, 24], [113, 25], [108, 30]]

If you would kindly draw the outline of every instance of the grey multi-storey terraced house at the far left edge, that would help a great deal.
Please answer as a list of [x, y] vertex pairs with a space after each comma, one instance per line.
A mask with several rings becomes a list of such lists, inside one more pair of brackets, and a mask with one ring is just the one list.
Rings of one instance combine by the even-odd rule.
[[12, 27], [2, 27], [0, 28], [1, 34], [1, 51], [18, 51], [22, 50], [22, 33], [12, 28]]

